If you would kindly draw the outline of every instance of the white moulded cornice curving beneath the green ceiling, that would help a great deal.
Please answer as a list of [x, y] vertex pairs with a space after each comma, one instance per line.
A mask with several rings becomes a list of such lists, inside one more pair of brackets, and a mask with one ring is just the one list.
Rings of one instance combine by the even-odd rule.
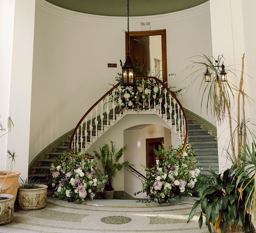
[[[91, 15], [86, 13], [81, 13], [77, 11], [67, 10], [56, 5], [53, 5], [45, 0], [36, 0], [36, 5], [54, 14], [62, 15], [68, 18], [74, 18], [78, 20], [102, 22], [102, 23], [125, 23], [127, 17], [122, 16], [103, 16], [103, 15]], [[204, 12], [210, 9], [210, 3], [205, 2], [198, 6], [188, 8], [182, 11], [161, 14], [161, 15], [149, 15], [149, 16], [132, 16], [130, 17], [131, 23], [137, 23], [145, 20], [150, 20], [150, 22], [156, 21], [166, 21], [173, 20], [177, 18], [189, 17], [200, 12]]]

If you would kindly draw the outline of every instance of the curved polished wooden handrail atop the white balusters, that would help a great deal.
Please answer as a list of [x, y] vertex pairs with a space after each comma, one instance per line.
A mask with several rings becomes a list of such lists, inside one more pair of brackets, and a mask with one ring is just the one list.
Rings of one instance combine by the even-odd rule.
[[[187, 119], [187, 116], [186, 116], [186, 113], [180, 103], [180, 101], [177, 99], [177, 97], [173, 94], [173, 92], [170, 91], [170, 89], [168, 88], [167, 85], [165, 85], [161, 80], [159, 80], [158, 78], [156, 77], [151, 77], [151, 76], [148, 76], [148, 77], [136, 77], [135, 79], [154, 79], [156, 80], [157, 82], [159, 82], [166, 90], [167, 92], [176, 100], [177, 104], [180, 106], [180, 109], [183, 113], [183, 116], [184, 116], [184, 120], [185, 120], [185, 126], [186, 126], [186, 133], [185, 133], [185, 140], [184, 140], [184, 145], [182, 147], [182, 151], [180, 152], [180, 154], [185, 150], [185, 147], [187, 145], [187, 140], [188, 140], [188, 119]], [[107, 95], [109, 95], [113, 90], [115, 90], [118, 86], [120, 85], [120, 83], [116, 84], [113, 88], [111, 88], [105, 95], [103, 95], [86, 113], [85, 115], [79, 120], [78, 124], [76, 125], [75, 129], [74, 129], [74, 132], [70, 138], [70, 142], [69, 142], [69, 148], [68, 148], [68, 151], [69, 153], [71, 153], [71, 145], [72, 145], [72, 142], [73, 142], [73, 139], [74, 139], [74, 136], [77, 132], [77, 129], [79, 128], [80, 124], [83, 122], [84, 118], [94, 109], [94, 107], [99, 104]], [[175, 107], [175, 106], [174, 106]], [[170, 116], [171, 117], [171, 116]], [[97, 118], [97, 116], [96, 116]]]

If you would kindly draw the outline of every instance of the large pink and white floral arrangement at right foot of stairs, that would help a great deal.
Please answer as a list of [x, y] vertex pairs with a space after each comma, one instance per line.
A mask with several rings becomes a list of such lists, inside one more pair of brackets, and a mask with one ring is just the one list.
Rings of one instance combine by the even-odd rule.
[[162, 148], [159, 146], [159, 149], [155, 150], [157, 156], [164, 156], [156, 166], [147, 168], [142, 165], [147, 173], [147, 181], [142, 182], [142, 188], [134, 195], [146, 192], [146, 203], [168, 203], [170, 198], [188, 198], [201, 186], [203, 177], [197, 167], [194, 150], [186, 147], [180, 154], [181, 146], [177, 149], [171, 146], [169, 149], [165, 151], [163, 145]]

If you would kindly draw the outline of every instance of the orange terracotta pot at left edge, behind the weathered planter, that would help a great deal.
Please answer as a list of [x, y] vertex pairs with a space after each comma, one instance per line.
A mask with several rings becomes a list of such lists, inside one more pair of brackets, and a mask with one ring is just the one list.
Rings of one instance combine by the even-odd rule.
[[[1, 183], [4, 181], [4, 178], [8, 172], [9, 171], [0, 171], [0, 182]], [[11, 171], [9, 173], [9, 175], [7, 176], [7, 178], [5, 179], [4, 185], [1, 190], [1, 193], [14, 195], [14, 202], [16, 200], [17, 191], [20, 186], [19, 175], [20, 175], [19, 171]]]

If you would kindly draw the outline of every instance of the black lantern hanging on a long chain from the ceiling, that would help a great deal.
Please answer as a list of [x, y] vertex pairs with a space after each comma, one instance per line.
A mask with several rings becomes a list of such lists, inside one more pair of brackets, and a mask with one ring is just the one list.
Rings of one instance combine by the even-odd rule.
[[120, 64], [122, 67], [122, 81], [123, 86], [135, 86], [135, 69], [137, 66], [137, 60], [135, 59], [135, 64], [132, 63], [130, 57], [130, 45], [129, 45], [129, 0], [127, 0], [127, 58], [122, 65], [122, 61], [120, 60]]

